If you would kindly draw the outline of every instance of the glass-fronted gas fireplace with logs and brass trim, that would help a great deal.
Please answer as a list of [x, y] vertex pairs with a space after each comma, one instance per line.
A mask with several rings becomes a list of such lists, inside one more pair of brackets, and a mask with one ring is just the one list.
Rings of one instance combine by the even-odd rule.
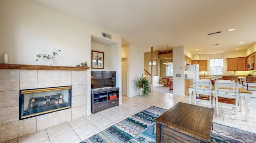
[[20, 120], [71, 108], [71, 86], [20, 90]]

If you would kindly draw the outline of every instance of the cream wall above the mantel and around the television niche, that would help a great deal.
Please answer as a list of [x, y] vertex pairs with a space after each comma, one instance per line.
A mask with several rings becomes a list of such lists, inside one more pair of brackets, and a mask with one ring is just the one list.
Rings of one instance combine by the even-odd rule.
[[[88, 67], [91, 67], [91, 35], [102, 37], [104, 31], [112, 35], [111, 41], [118, 43], [118, 48], [115, 49], [116, 66], [121, 67], [122, 37], [120, 35], [28, 0], [1, 0], [0, 17], [0, 57], [3, 52], [9, 53], [9, 64], [50, 65], [50, 60], [42, 57], [36, 61], [36, 55], [51, 54], [54, 49], [60, 49], [61, 52], [54, 58], [54, 65], [75, 67], [88, 61]], [[108, 50], [104, 52], [109, 53]], [[106, 55], [106, 59], [109, 60], [104, 67], [110, 69], [108, 63], [113, 60], [109, 55]], [[117, 69], [120, 76], [121, 70]], [[87, 74], [88, 89], [90, 89], [90, 70], [88, 69], [89, 74]], [[90, 95], [90, 90], [87, 94]], [[88, 96], [89, 102], [90, 96]], [[90, 108], [87, 109], [89, 114]]]

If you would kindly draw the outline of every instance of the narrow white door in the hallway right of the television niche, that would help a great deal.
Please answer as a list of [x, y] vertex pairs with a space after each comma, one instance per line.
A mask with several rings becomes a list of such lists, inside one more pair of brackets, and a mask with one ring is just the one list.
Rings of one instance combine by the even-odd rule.
[[122, 95], [127, 95], [127, 58], [122, 58]]

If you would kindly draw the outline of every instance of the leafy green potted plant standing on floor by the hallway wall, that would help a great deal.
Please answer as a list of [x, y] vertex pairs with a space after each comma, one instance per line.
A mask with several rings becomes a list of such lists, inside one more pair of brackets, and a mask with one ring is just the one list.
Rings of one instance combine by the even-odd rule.
[[138, 77], [136, 76], [136, 78], [134, 78], [133, 80], [134, 86], [137, 90], [137, 88], [139, 89], [139, 91], [142, 93], [142, 96], [147, 96], [150, 92], [150, 88], [149, 88], [149, 82], [148, 80], [143, 76], [142, 77]]

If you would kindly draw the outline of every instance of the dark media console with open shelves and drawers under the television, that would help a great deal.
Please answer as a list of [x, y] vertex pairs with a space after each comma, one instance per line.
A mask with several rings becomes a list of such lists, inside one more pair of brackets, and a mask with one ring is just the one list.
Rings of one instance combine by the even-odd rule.
[[92, 114], [119, 105], [119, 87], [91, 90]]

